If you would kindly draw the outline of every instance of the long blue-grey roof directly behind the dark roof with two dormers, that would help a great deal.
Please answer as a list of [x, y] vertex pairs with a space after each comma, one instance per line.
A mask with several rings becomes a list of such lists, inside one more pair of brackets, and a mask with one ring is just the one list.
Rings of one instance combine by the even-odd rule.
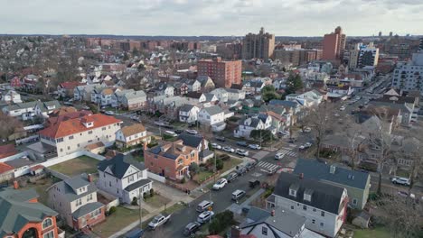
[[[334, 165], [333, 165], [334, 166]], [[317, 160], [296, 160], [294, 173], [304, 174], [304, 178], [321, 179], [353, 188], [365, 189], [370, 174], [352, 169], [335, 167], [334, 174], [330, 173], [331, 165]]]

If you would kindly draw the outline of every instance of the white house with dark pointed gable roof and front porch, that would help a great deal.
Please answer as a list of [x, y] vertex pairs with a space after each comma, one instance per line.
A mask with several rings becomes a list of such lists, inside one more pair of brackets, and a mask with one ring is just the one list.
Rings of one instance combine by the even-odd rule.
[[131, 155], [117, 154], [109, 160], [99, 162], [98, 187], [130, 204], [134, 197], [143, 197], [153, 188], [153, 181], [147, 178], [147, 170], [142, 162]]

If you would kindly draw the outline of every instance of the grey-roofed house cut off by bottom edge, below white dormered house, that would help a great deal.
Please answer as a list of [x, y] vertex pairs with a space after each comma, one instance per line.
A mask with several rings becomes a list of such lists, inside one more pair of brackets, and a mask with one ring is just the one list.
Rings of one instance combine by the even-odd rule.
[[304, 216], [296, 215], [281, 207], [265, 210], [251, 206], [245, 221], [239, 226], [239, 233], [257, 238], [324, 238], [305, 228], [305, 220]]

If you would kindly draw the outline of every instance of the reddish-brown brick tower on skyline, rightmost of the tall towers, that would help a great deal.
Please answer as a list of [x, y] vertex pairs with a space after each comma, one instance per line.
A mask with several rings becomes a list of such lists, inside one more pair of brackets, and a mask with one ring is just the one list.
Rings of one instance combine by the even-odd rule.
[[346, 36], [343, 34], [341, 26], [336, 27], [335, 31], [324, 35], [323, 58], [326, 60], [343, 59], [343, 50], [345, 50]]

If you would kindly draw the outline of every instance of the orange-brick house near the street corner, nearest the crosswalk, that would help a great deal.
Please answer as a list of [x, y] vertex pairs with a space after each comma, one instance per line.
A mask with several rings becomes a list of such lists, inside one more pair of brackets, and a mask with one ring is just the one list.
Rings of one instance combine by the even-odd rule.
[[182, 140], [166, 142], [144, 151], [146, 168], [165, 178], [182, 179], [192, 163], [198, 164], [196, 148], [183, 145]]

